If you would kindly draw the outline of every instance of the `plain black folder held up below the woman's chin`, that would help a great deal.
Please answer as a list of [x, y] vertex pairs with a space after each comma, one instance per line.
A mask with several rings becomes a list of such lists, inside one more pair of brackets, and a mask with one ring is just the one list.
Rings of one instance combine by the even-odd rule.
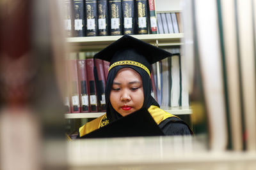
[[81, 138], [114, 138], [131, 136], [163, 136], [163, 132], [147, 109], [141, 109]]

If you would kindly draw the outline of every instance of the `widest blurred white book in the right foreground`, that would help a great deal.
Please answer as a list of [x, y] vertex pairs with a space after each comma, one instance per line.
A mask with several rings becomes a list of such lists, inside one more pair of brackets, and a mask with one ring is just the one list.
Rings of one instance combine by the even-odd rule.
[[209, 120], [209, 148], [212, 151], [224, 151], [227, 148], [228, 134], [217, 16], [215, 1], [196, 1], [195, 27], [198, 32], [196, 46], [198, 46], [202, 88]]

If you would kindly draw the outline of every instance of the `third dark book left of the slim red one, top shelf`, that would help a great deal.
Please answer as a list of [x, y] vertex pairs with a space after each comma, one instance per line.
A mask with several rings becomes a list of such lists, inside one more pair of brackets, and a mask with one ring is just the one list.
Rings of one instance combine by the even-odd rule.
[[111, 29], [111, 36], [122, 35], [122, 1], [121, 0], [109, 0], [109, 16]]

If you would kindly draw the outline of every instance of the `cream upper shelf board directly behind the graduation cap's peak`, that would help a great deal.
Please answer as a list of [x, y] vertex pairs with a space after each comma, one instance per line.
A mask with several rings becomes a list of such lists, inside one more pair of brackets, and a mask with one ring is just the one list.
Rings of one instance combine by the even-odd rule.
[[[181, 45], [180, 39], [184, 37], [184, 34], [143, 34], [132, 36], [152, 45], [157, 45], [158, 41], [158, 46], [174, 46]], [[67, 43], [71, 46], [71, 50], [73, 51], [99, 50], [121, 37], [122, 36], [72, 37], [67, 38]]]

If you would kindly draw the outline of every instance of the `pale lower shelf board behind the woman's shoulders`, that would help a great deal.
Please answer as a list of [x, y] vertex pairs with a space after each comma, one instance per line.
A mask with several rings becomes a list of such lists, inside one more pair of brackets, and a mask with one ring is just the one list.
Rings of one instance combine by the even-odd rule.
[[[167, 108], [165, 111], [173, 115], [188, 115], [192, 113], [192, 110], [182, 108]], [[97, 118], [104, 115], [105, 112], [97, 113], [65, 113], [65, 118]]]

